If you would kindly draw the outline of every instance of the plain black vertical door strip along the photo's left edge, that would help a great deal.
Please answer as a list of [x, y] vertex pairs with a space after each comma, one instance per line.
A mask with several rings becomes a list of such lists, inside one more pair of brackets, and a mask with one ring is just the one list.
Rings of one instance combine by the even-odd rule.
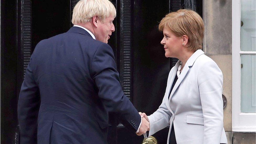
[[1, 141], [14, 143], [17, 119], [16, 1], [1, 0]]

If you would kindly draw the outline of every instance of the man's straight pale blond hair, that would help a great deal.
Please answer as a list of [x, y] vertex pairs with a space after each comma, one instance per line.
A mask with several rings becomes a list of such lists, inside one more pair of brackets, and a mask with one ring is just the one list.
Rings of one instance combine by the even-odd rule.
[[72, 23], [85, 24], [94, 16], [98, 16], [103, 21], [110, 15], [115, 18], [116, 9], [109, 0], [81, 0], [73, 9]]

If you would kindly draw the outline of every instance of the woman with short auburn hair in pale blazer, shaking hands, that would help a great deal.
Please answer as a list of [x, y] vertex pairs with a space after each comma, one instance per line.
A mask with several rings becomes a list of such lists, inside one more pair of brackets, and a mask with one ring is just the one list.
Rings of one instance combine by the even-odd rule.
[[170, 124], [167, 143], [227, 143], [223, 129], [223, 76], [204, 54], [204, 23], [193, 10], [167, 14], [159, 24], [166, 57], [179, 61], [170, 70], [162, 104], [152, 115], [148, 136]]

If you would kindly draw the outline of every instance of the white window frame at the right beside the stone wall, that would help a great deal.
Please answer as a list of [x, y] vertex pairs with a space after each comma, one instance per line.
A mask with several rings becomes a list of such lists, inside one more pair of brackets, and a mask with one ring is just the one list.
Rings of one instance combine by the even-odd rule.
[[232, 131], [255, 132], [256, 113], [241, 113], [241, 55], [255, 55], [241, 51], [241, 2], [232, 0]]

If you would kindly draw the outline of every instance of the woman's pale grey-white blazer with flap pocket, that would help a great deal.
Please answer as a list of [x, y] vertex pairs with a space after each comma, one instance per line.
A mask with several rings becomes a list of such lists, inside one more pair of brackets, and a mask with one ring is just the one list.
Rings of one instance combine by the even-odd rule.
[[[202, 50], [186, 62], [172, 92], [180, 61], [170, 70], [162, 104], [148, 116], [148, 136], [174, 125], [177, 143], [227, 143], [223, 128], [223, 76], [217, 64]], [[170, 98], [168, 98], [170, 95]]]

